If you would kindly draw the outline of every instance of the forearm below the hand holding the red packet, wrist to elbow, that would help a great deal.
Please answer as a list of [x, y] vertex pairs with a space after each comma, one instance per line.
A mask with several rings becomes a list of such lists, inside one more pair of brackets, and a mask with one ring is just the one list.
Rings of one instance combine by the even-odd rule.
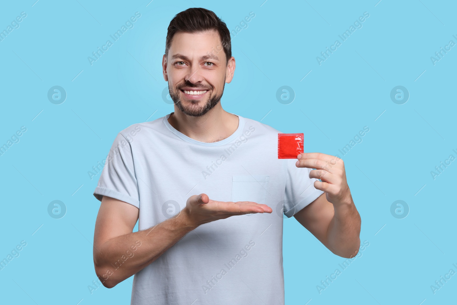
[[360, 247], [360, 215], [352, 198], [350, 203], [334, 205], [334, 209], [327, 230], [329, 247], [341, 257], [355, 257]]

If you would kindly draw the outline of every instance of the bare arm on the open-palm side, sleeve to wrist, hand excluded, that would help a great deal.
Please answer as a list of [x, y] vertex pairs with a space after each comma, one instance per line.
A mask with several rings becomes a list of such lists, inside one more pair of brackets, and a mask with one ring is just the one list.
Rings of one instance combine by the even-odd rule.
[[186, 213], [153, 228], [132, 232], [139, 209], [103, 196], [94, 234], [94, 266], [101, 283], [112, 288], [137, 273], [195, 229]]

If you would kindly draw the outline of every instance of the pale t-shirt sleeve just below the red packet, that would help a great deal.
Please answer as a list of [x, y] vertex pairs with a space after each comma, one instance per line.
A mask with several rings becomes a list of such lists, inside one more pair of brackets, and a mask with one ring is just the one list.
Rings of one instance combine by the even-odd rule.
[[290, 218], [324, 192], [314, 187], [314, 181], [319, 181], [319, 179], [309, 177], [311, 168], [295, 166], [297, 159], [287, 159], [286, 161], [287, 180], [284, 215]]

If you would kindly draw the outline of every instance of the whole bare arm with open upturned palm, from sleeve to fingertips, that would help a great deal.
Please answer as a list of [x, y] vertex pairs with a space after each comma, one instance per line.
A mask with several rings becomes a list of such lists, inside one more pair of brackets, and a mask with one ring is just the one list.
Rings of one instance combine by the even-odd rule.
[[154, 262], [199, 225], [234, 215], [271, 213], [265, 204], [220, 202], [206, 194], [193, 195], [171, 219], [132, 232], [138, 220], [135, 206], [103, 196], [94, 233], [94, 267], [101, 283], [112, 288]]

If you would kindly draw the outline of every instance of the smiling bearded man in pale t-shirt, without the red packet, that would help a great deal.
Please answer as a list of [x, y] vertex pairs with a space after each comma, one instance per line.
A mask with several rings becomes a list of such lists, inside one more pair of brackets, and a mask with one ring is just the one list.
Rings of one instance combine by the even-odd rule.
[[278, 130], [223, 110], [235, 70], [223, 21], [202, 8], [177, 14], [162, 65], [175, 111], [122, 130], [94, 191], [104, 286], [134, 274], [131, 304], [284, 304], [283, 215], [336, 255], [357, 254], [343, 161], [278, 159]]

